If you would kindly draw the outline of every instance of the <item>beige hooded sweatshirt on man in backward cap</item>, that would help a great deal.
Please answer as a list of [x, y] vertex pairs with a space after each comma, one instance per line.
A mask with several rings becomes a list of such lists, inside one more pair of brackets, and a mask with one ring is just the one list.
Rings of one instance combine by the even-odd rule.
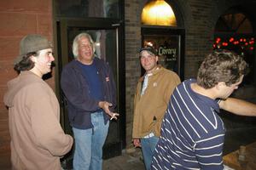
[[8, 82], [4, 104], [9, 107], [11, 162], [19, 170], [59, 170], [60, 156], [73, 138], [60, 125], [60, 108], [49, 85], [31, 71]]

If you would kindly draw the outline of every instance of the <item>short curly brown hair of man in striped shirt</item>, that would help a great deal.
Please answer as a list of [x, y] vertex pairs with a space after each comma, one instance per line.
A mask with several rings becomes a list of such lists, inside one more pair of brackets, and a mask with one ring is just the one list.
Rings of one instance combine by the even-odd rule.
[[238, 54], [225, 49], [214, 50], [201, 63], [197, 74], [197, 84], [203, 88], [213, 88], [218, 82], [227, 86], [239, 82], [248, 72], [248, 65]]

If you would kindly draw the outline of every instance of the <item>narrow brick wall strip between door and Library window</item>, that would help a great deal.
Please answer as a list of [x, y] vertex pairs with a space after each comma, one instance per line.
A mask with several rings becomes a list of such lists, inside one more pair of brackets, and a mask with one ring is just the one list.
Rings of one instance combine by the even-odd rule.
[[141, 12], [143, 2], [125, 1], [125, 95], [126, 95], [126, 144], [131, 145], [133, 98], [137, 80], [141, 74], [137, 51], [141, 48]]

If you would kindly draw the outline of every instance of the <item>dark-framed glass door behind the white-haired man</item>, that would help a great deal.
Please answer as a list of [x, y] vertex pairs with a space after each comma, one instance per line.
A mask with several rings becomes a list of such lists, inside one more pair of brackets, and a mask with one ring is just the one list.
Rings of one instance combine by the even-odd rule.
[[[100, 24], [99, 24], [100, 23]], [[119, 65], [119, 59], [122, 58], [122, 41], [120, 39], [120, 28], [119, 24], [113, 23], [113, 21], [103, 20], [97, 22], [96, 20], [61, 20], [57, 22], [57, 46], [58, 46], [58, 71], [61, 75], [61, 69], [68, 62], [73, 60], [72, 44], [73, 39], [81, 32], [87, 32], [96, 42], [96, 56], [100, 59], [104, 59], [111, 66], [113, 71], [113, 76], [117, 84], [117, 101], [118, 107], [117, 112], [120, 114], [119, 120], [111, 121], [109, 124], [108, 137], [103, 148], [103, 158], [109, 158], [113, 156], [118, 156], [121, 154], [122, 147], [124, 146], [125, 133], [125, 105], [120, 105], [123, 103], [123, 98], [119, 96], [125, 96], [123, 90], [121, 90], [123, 82], [120, 68], [123, 67], [122, 64]], [[121, 62], [122, 63], [122, 62]], [[125, 67], [123, 67], [124, 69]], [[60, 77], [60, 76], [59, 76]], [[69, 126], [68, 116], [67, 116], [67, 103], [64, 100], [63, 94], [60, 88], [60, 99], [61, 99], [61, 111], [62, 111], [62, 127], [66, 133], [72, 134], [72, 128]], [[119, 125], [122, 125], [120, 127]], [[73, 153], [70, 153], [69, 159], [73, 158]]]

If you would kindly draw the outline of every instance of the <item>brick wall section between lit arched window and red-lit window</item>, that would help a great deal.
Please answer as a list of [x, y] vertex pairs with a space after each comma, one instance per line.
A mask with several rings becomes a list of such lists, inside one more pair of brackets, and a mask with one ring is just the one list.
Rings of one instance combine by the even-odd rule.
[[185, 15], [185, 77], [195, 77], [201, 60], [212, 50], [215, 23], [213, 1], [189, 1], [190, 14]]

